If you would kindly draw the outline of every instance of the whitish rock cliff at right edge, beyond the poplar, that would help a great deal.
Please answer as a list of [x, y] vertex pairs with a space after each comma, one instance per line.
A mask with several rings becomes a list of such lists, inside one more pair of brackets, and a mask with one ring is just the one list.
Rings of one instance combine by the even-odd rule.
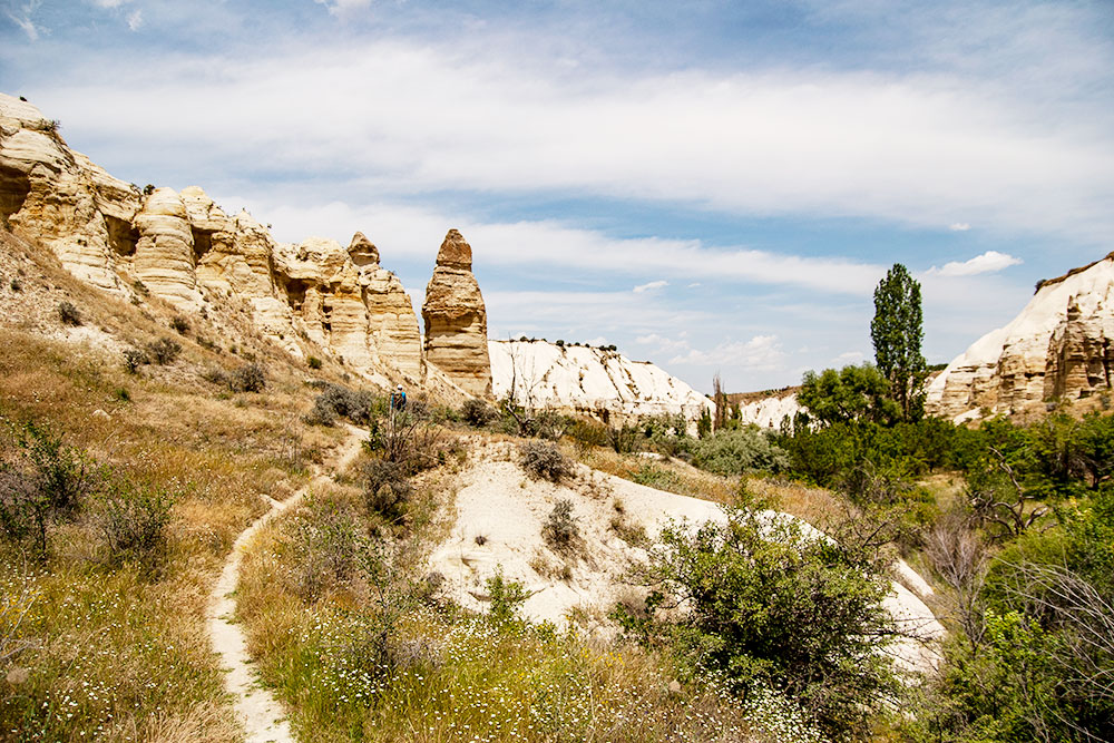
[[1111, 390], [1114, 253], [1042, 282], [1005, 327], [976, 341], [928, 388], [929, 414], [1026, 414]]

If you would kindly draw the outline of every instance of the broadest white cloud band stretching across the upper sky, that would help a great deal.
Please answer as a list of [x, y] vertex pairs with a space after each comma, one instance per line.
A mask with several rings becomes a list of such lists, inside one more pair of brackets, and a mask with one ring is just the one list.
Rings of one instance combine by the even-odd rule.
[[[498, 43], [475, 51], [295, 41], [264, 58], [59, 75], [68, 81], [38, 98], [65, 101], [70, 127], [120, 147], [187, 147], [201, 173], [267, 163], [334, 182], [372, 174], [363, 193], [468, 184], [925, 226], [960, 213], [1005, 232], [1114, 236], [1114, 134], [1093, 117], [1036, 116], [990, 82], [819, 69], [585, 76]], [[219, 117], [206, 115], [214, 100]], [[138, 108], [149, 114], [118, 116]]]

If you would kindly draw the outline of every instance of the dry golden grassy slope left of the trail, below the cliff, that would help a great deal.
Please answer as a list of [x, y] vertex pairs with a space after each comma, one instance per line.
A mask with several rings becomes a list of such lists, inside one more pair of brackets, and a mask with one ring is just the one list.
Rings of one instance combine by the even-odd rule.
[[[80, 326], [60, 322], [62, 301], [78, 309]], [[0, 739], [238, 740], [205, 603], [264, 497], [303, 485], [306, 461], [340, 438], [300, 421], [314, 395], [307, 370], [263, 342], [240, 307], [192, 319], [182, 336], [169, 329], [168, 306], [102, 294], [3, 231], [0, 307], [0, 457], [17, 453], [10, 427], [33, 420], [110, 465], [115, 479], [175, 497], [167, 555], [155, 569], [108, 559], [95, 505], [52, 531], [41, 566], [0, 544], [0, 608], [27, 607], [18, 629], [14, 613], [0, 612], [0, 633], [32, 644], [0, 661]], [[180, 356], [129, 374], [120, 351], [158, 338], [180, 342]], [[202, 378], [237, 368], [245, 354], [267, 368], [263, 393]]]

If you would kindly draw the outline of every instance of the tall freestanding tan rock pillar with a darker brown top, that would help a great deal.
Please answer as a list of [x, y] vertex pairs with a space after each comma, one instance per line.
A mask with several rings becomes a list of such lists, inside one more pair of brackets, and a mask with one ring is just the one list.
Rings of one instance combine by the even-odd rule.
[[472, 248], [450, 229], [437, 254], [421, 309], [426, 322], [426, 359], [465, 392], [491, 394], [487, 311], [472, 275]]

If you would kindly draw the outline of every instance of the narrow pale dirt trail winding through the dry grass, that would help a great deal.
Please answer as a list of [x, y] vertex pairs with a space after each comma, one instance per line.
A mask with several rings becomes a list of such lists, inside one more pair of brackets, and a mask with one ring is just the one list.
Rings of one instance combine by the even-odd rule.
[[[365, 432], [354, 426], [345, 426], [349, 438], [341, 443], [336, 458], [324, 468], [324, 471], [342, 472], [356, 454]], [[247, 743], [294, 743], [295, 739], [286, 722], [286, 715], [278, 701], [270, 691], [260, 685], [258, 672], [247, 655], [247, 638], [240, 626], [233, 624], [236, 614], [236, 600], [233, 592], [240, 581], [240, 564], [252, 538], [267, 521], [291, 506], [296, 505], [314, 485], [328, 481], [328, 475], [319, 471], [316, 477], [286, 500], [278, 501], [267, 498], [271, 510], [257, 518], [244, 529], [232, 546], [232, 554], [224, 564], [221, 577], [209, 595], [209, 606], [206, 613], [209, 638], [213, 651], [221, 656], [221, 668], [225, 671], [224, 686], [233, 695], [236, 716], [244, 726], [244, 740]]]

